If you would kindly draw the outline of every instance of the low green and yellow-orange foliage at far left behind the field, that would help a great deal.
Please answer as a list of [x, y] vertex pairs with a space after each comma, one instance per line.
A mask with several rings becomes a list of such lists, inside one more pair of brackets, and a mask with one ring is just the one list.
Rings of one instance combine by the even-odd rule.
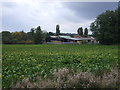
[[28, 39], [28, 34], [26, 34], [24, 31], [13, 33], [10, 33], [9, 31], [2, 32], [3, 44], [27, 44], [30, 42], [32, 42], [32, 40]]

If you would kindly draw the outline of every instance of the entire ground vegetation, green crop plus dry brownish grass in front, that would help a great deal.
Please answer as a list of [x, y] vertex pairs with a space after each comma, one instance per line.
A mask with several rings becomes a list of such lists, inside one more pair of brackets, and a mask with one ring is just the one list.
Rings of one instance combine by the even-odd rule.
[[3, 45], [2, 55], [3, 88], [119, 86], [117, 46]]

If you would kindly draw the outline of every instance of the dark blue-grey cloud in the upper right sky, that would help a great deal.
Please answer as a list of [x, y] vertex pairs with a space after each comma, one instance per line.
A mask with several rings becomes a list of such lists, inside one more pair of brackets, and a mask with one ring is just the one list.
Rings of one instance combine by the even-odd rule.
[[115, 10], [118, 7], [117, 2], [66, 2], [63, 5], [84, 19], [94, 19], [102, 12]]

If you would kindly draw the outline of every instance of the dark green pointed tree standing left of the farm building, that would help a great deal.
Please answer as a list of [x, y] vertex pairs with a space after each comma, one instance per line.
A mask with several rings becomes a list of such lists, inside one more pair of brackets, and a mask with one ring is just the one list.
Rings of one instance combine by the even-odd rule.
[[43, 33], [42, 33], [42, 30], [41, 30], [41, 27], [38, 26], [35, 29], [35, 32], [34, 32], [34, 43], [35, 44], [41, 44], [42, 41], [43, 41]]

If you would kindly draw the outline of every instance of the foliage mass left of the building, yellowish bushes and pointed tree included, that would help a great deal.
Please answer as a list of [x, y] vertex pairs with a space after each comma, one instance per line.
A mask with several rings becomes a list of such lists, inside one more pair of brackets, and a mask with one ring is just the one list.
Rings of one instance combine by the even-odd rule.
[[38, 26], [37, 28], [31, 28], [30, 32], [2, 32], [3, 44], [41, 44], [47, 37], [47, 32], [43, 32]]

